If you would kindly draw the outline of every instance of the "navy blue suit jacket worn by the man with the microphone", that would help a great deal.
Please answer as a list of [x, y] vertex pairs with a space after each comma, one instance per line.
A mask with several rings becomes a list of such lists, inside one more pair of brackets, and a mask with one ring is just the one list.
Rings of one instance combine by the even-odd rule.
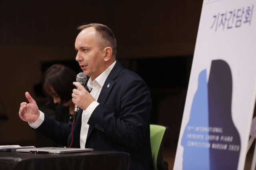
[[[87, 86], [85, 88], [88, 90]], [[85, 148], [127, 152], [130, 154], [130, 170], [151, 170], [151, 97], [146, 83], [116, 61], [97, 102], [100, 105], [88, 120], [90, 126]], [[72, 148], [80, 148], [81, 120], [82, 109], [79, 109]], [[44, 122], [35, 130], [69, 146], [72, 122], [71, 118], [68, 124], [59, 123], [45, 115]]]

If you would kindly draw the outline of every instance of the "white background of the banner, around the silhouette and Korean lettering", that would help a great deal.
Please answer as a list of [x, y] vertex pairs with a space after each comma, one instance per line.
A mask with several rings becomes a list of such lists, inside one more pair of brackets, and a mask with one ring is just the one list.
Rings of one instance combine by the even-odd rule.
[[[228, 29], [225, 25], [223, 30], [223, 26], [219, 26], [221, 14], [227, 12], [228, 19], [228, 12], [244, 8], [245, 15], [248, 6], [250, 8], [254, 6], [251, 23], [244, 23], [245, 16], [243, 16], [240, 27], [236, 27], [236, 20], [239, 19], [236, 17], [233, 24], [231, 22], [229, 24], [232, 28]], [[216, 29], [216, 25], [213, 27], [212, 25], [214, 16], [217, 18], [218, 14]], [[232, 72], [232, 119], [241, 139], [238, 169], [243, 170], [256, 96], [256, 0], [204, 0], [203, 2], [174, 170], [182, 169], [184, 148], [181, 146], [181, 139], [198, 88], [198, 75], [202, 70], [207, 69], [208, 81], [211, 62], [216, 59], [226, 61]]]

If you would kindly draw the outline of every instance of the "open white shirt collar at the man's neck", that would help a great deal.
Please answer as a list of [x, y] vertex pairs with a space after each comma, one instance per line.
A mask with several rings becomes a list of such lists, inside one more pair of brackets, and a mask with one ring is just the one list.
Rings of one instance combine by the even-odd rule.
[[[110, 71], [113, 69], [114, 65], [116, 64], [116, 61], [114, 61], [114, 63], [112, 63], [103, 73], [101, 73], [94, 81], [96, 81], [101, 87], [104, 85]], [[90, 79], [88, 80], [88, 83], [87, 83], [87, 87], [88, 89], [91, 91], [92, 88], [93, 88], [93, 82], [91, 77]]]

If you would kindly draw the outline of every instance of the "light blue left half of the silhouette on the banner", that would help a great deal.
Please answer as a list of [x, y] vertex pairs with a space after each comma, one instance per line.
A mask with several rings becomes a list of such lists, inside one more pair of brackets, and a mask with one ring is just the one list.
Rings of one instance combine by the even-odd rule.
[[205, 140], [209, 132], [195, 131], [201, 127], [209, 127], [206, 69], [199, 74], [190, 119], [181, 141], [184, 147], [183, 170], [210, 170], [209, 140]]

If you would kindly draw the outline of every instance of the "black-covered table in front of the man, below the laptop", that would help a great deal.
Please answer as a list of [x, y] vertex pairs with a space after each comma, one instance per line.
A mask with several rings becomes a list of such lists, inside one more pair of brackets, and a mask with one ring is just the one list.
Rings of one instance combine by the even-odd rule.
[[0, 152], [0, 170], [128, 170], [126, 152], [93, 151], [65, 154]]

